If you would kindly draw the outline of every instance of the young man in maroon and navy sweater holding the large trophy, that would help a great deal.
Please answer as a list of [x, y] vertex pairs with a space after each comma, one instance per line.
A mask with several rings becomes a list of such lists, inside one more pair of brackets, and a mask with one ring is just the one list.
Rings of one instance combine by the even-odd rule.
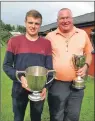
[[[38, 36], [42, 23], [42, 15], [36, 10], [30, 10], [25, 17], [26, 33], [12, 37], [8, 41], [3, 70], [13, 80], [12, 101], [14, 121], [24, 121], [25, 109], [28, 103], [30, 89], [23, 74], [19, 75], [22, 83], [16, 78], [17, 70], [25, 70], [29, 66], [42, 66], [52, 69], [50, 41]], [[46, 88], [43, 88], [42, 101], [30, 101], [31, 121], [41, 121]]]

